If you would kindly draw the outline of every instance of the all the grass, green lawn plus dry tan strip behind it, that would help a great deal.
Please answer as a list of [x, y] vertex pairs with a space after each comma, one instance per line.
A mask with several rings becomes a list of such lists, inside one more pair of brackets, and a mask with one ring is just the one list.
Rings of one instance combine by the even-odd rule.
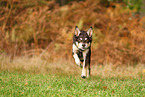
[[144, 97], [145, 66], [92, 65], [91, 78], [71, 60], [0, 56], [0, 97]]

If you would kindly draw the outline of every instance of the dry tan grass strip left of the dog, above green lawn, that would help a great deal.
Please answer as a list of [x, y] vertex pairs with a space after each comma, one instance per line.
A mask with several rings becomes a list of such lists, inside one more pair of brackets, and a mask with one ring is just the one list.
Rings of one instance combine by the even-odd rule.
[[[7, 55], [0, 56], [0, 70], [29, 72], [29, 73], [51, 73], [51, 74], [76, 74], [79, 68], [72, 62], [65, 60], [43, 59], [40, 56], [22, 56], [13, 59]], [[63, 71], [63, 72], [62, 72]]]

